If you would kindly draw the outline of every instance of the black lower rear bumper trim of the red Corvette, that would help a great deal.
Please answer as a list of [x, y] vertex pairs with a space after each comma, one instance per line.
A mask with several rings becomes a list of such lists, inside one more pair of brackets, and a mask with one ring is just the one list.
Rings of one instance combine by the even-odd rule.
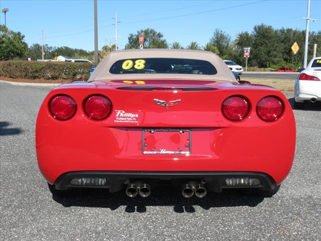
[[[74, 178], [102, 178], [104, 185], [72, 185]], [[228, 186], [227, 178], [256, 178], [261, 184], [254, 186]], [[273, 190], [276, 183], [271, 176], [261, 172], [124, 172], [124, 171], [80, 171], [62, 174], [54, 183], [56, 189], [66, 190], [72, 187], [108, 188], [110, 192], [117, 192], [125, 188], [129, 183], [143, 181], [149, 183], [151, 187], [171, 181], [171, 184], [181, 188], [181, 186], [191, 180], [204, 183], [206, 188], [213, 192], [221, 192], [222, 188], [259, 188], [262, 190]], [[168, 183], [168, 182], [167, 182]]]

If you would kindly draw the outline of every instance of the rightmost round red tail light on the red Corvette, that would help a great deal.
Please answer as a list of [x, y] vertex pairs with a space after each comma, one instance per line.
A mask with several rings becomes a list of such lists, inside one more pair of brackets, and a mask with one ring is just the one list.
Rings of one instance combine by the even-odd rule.
[[274, 96], [262, 98], [256, 106], [257, 115], [265, 122], [276, 121], [283, 113], [283, 102]]

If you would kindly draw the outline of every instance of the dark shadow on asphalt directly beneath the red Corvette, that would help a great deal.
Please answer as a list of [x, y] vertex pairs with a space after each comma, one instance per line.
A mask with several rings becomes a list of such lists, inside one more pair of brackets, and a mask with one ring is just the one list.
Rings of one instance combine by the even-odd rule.
[[171, 186], [156, 187], [146, 198], [139, 195], [130, 198], [126, 196], [125, 191], [109, 193], [107, 189], [86, 189], [77, 196], [53, 195], [53, 199], [64, 207], [83, 206], [116, 210], [125, 206], [125, 212], [146, 212], [148, 206], [173, 206], [174, 211], [178, 213], [195, 212], [194, 206], [200, 206], [206, 210], [215, 207], [255, 207], [264, 200], [263, 197], [242, 195], [237, 189], [223, 189], [222, 193], [209, 192], [204, 198], [196, 196], [185, 198], [179, 190]]

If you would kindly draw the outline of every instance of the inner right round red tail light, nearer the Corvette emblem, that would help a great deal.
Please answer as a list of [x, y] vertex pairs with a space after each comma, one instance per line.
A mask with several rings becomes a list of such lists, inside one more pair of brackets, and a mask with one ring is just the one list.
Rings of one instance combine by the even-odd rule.
[[248, 101], [242, 96], [230, 96], [222, 104], [222, 112], [230, 121], [242, 121], [249, 113]]

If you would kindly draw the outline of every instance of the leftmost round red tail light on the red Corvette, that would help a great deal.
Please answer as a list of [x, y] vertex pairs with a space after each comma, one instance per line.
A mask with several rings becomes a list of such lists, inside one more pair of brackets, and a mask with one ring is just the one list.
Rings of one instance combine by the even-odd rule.
[[67, 121], [77, 110], [76, 101], [68, 95], [56, 95], [49, 102], [49, 111], [60, 121]]

